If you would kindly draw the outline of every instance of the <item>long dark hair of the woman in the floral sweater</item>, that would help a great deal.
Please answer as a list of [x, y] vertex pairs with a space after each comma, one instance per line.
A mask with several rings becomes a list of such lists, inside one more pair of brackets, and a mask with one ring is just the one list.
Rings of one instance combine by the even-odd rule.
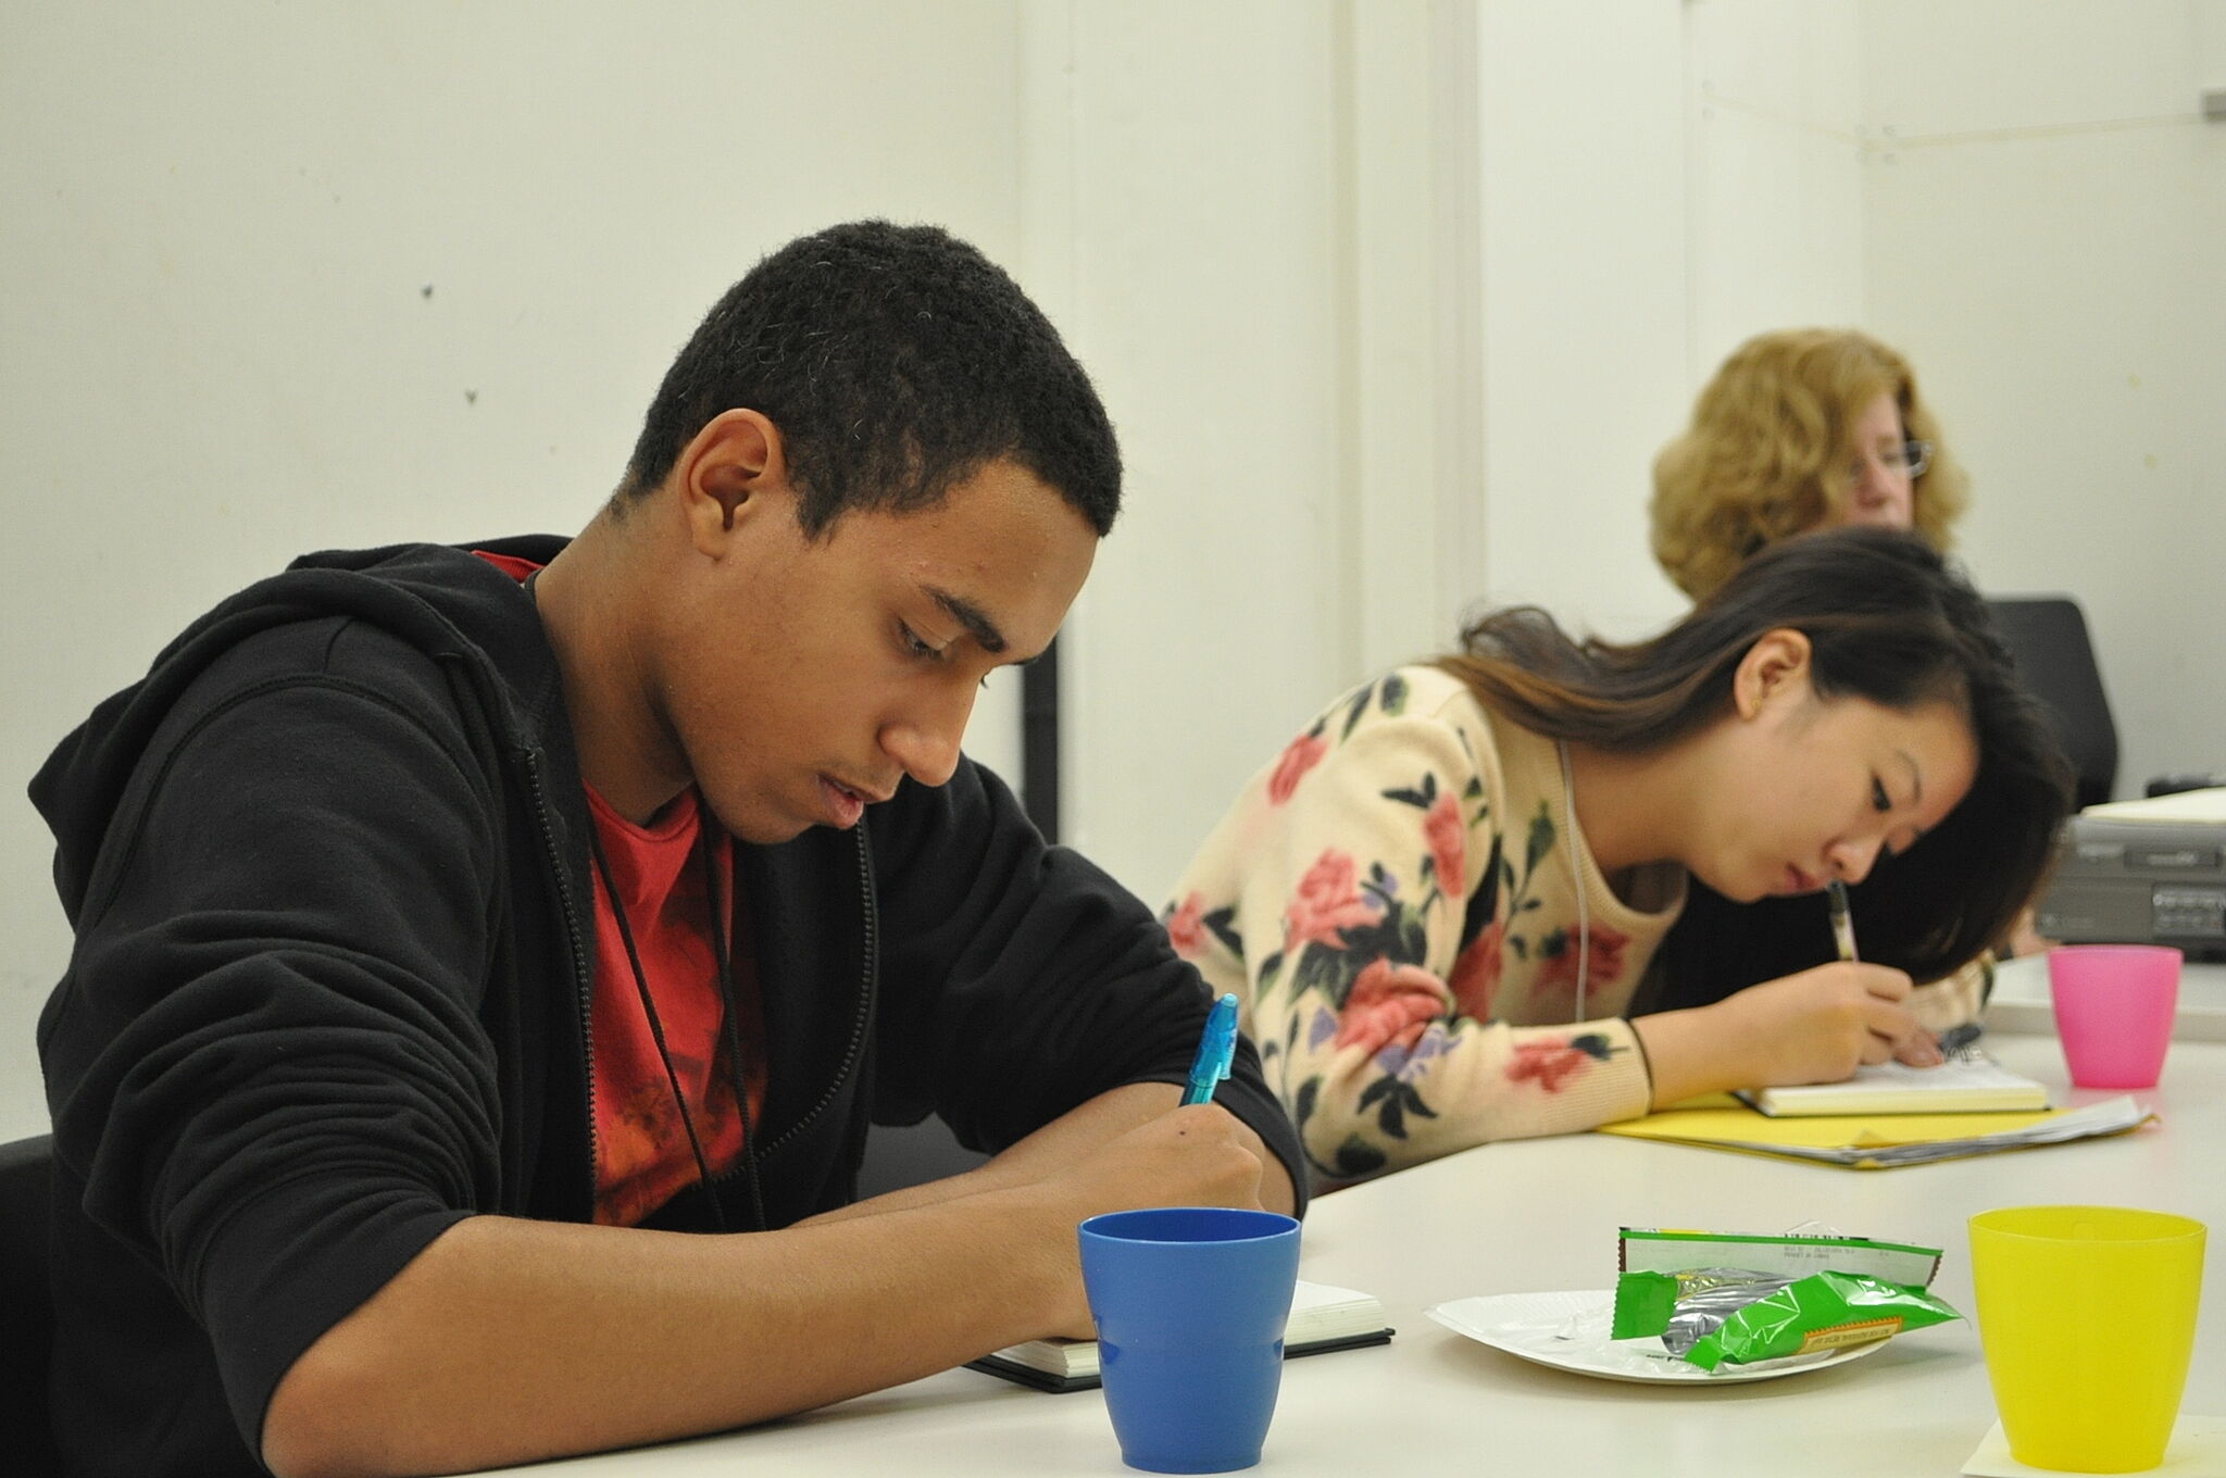
[[[2070, 810], [2070, 766], [2010, 666], [1986, 603], [1921, 539], [1870, 528], [1770, 545], [1683, 621], [1629, 646], [1574, 639], [1536, 608], [1471, 623], [1440, 668], [1549, 739], [1654, 750], [1732, 712], [1732, 677], [1772, 630], [1810, 639], [1816, 697], [1954, 703], [1972, 726], [1970, 795], [1854, 888], [1863, 955], [1937, 979], [1997, 944], [2032, 901]], [[1830, 957], [1821, 899], [1698, 901], [1672, 930], [1670, 999], [1716, 999]], [[1783, 935], [1783, 939], [1781, 939]], [[1776, 968], [1783, 966], [1783, 968]], [[1756, 975], [1754, 970], [1767, 970]]]

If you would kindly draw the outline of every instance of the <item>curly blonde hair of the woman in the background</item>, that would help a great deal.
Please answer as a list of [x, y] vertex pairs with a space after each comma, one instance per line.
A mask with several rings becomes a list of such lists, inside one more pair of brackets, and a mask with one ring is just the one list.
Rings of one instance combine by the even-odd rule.
[[1854, 329], [1779, 329], [1739, 345], [1654, 459], [1654, 559], [1701, 599], [1761, 548], [1819, 528], [1848, 496], [1850, 432], [1881, 394], [1932, 443], [1917, 479], [1917, 532], [1948, 550], [1970, 479], [1948, 456], [1908, 361]]

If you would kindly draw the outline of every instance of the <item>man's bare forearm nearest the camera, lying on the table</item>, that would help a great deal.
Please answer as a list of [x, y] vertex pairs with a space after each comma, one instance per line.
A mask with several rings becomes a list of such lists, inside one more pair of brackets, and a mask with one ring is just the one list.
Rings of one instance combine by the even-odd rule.
[[801, 1411], [1035, 1338], [1064, 1318], [1066, 1213], [993, 1195], [1006, 1204], [712, 1238], [459, 1222], [287, 1371], [265, 1462], [525, 1462]]

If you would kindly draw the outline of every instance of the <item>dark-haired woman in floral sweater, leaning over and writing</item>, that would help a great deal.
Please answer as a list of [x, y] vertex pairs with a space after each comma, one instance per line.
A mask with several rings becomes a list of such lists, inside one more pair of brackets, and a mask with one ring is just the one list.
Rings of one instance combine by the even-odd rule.
[[[1912, 977], [2008, 926], [2066, 795], [1979, 597], [1919, 539], [1832, 530], [1763, 552], [1654, 641], [1578, 643], [1507, 610], [1340, 697], [1251, 779], [1164, 917], [1244, 1002], [1336, 1184], [1694, 1093], [1937, 1062], [1939, 988]], [[1830, 964], [1638, 1015], [1687, 875], [1743, 904], [1861, 884], [1865, 962], [1832, 959], [1816, 899]]]

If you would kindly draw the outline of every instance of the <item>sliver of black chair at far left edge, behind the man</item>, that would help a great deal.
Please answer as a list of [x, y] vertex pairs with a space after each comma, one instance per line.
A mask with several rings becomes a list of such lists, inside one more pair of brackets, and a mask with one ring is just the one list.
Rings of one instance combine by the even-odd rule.
[[62, 1469], [47, 1418], [47, 1362], [53, 1356], [53, 1293], [47, 1287], [47, 1222], [53, 1135], [0, 1144], [0, 1454], [9, 1471], [42, 1478]]

